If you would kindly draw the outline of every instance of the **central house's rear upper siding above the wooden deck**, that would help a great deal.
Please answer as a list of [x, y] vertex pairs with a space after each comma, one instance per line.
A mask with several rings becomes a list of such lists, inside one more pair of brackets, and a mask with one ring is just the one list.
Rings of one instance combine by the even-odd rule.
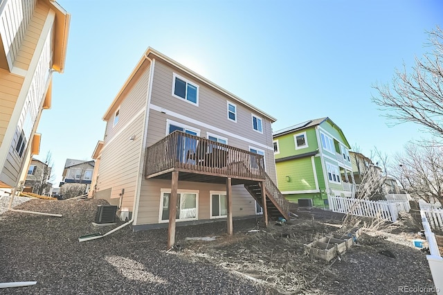
[[[199, 105], [172, 96], [173, 74], [199, 86]], [[237, 105], [237, 123], [228, 119], [227, 101]], [[200, 130], [200, 136], [210, 134], [228, 139], [228, 145], [249, 150], [250, 146], [263, 150], [266, 159], [266, 171], [272, 179], [275, 177], [275, 163], [273, 157], [271, 122], [266, 120], [251, 109], [243, 107], [238, 102], [233, 102], [223, 94], [198, 83], [185, 73], [174, 71], [172, 67], [156, 61], [154, 71], [154, 84], [152, 87], [151, 105], [164, 109], [166, 114], [153, 107], [150, 109], [150, 121], [147, 136], [147, 146], [150, 146], [166, 134], [166, 119], [194, 127]], [[219, 111], [215, 111], [215, 109]], [[174, 116], [179, 114], [180, 116]], [[255, 132], [252, 127], [252, 115], [262, 118], [263, 134]], [[195, 122], [190, 122], [195, 120]], [[200, 125], [199, 123], [203, 123]]]

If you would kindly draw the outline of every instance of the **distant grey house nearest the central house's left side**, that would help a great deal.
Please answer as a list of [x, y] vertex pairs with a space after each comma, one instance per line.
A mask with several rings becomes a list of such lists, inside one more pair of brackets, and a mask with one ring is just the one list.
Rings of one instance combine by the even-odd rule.
[[85, 192], [91, 188], [95, 161], [66, 159], [62, 173], [63, 184], [84, 184]]

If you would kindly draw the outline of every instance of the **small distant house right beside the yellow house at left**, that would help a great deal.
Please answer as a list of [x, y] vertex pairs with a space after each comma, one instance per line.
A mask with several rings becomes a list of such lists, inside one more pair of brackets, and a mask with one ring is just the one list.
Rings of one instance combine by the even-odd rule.
[[37, 195], [51, 195], [52, 184], [48, 182], [51, 177], [52, 168], [47, 163], [32, 159], [26, 174], [24, 193], [35, 193]]

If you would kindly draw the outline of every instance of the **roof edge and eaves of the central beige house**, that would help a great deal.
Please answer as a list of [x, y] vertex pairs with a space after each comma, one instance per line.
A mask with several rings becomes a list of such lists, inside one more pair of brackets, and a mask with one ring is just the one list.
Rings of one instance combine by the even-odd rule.
[[269, 114], [266, 114], [264, 111], [257, 109], [257, 107], [254, 107], [250, 103], [246, 102], [245, 100], [242, 100], [242, 98], [239, 98], [238, 96], [235, 96], [233, 93], [230, 93], [224, 88], [219, 87], [214, 82], [211, 82], [210, 80], [204, 78], [203, 76], [199, 75], [198, 73], [195, 73], [195, 71], [192, 71], [188, 69], [186, 66], [183, 66], [183, 64], [179, 64], [179, 62], [176, 62], [172, 60], [170, 57], [167, 57], [166, 55], [163, 55], [163, 53], [159, 53], [159, 51], [154, 50], [154, 48], [148, 47], [147, 51], [145, 51], [145, 54], [141, 57], [141, 60], [138, 62], [134, 70], [132, 71], [131, 75], [129, 75], [129, 78], [127, 78], [125, 84], [123, 84], [123, 87], [118, 92], [116, 98], [114, 98], [114, 101], [111, 103], [109, 108], [107, 109], [105, 116], [103, 116], [103, 120], [109, 120], [111, 116], [114, 114], [114, 111], [118, 108], [120, 103], [123, 101], [122, 93], [125, 91], [125, 89], [128, 87], [129, 83], [132, 81], [132, 78], [134, 78], [134, 75], [138, 72], [139, 69], [141, 69], [143, 63], [146, 60], [152, 60], [153, 58], [162, 60], [163, 62], [166, 62], [170, 64], [171, 66], [174, 66], [178, 69], [181, 69], [181, 71], [184, 71], [188, 73], [189, 75], [192, 75], [193, 78], [199, 80], [200, 82], [203, 82], [206, 84], [206, 86], [215, 89], [216, 91], [219, 91], [223, 93], [224, 95], [228, 96], [230, 99], [232, 99], [234, 102], [238, 102], [249, 109], [253, 109], [261, 116], [266, 117], [267, 119], [271, 120], [271, 123], [275, 122], [277, 119], [272, 117]]

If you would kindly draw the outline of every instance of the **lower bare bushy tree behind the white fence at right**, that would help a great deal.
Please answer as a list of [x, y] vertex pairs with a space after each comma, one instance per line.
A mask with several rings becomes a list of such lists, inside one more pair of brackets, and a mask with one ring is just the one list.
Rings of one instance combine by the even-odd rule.
[[393, 175], [406, 192], [424, 199], [438, 199], [443, 204], [443, 147], [408, 143], [404, 154], [396, 154]]

